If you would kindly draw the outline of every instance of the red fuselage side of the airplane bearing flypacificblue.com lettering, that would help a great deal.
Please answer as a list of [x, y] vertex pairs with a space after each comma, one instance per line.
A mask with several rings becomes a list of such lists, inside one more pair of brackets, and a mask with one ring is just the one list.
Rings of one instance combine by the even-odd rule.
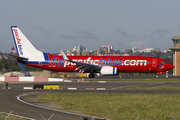
[[[54, 56], [48, 54], [49, 64], [48, 65], [30, 65], [47, 69], [51, 71], [60, 72], [77, 72], [75, 71], [75, 63], [64, 61], [62, 56]], [[165, 71], [159, 69], [157, 66], [153, 67], [152, 60], [157, 60], [157, 65], [161, 64], [163, 59], [154, 57], [141, 57], [141, 56], [68, 56], [70, 60], [79, 62], [85, 62], [88, 64], [99, 65], [99, 66], [112, 66], [117, 67], [117, 72], [159, 72]]]

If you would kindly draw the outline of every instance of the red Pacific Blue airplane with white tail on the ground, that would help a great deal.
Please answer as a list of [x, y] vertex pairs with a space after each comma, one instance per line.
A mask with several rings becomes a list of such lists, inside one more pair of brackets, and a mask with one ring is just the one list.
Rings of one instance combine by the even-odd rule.
[[59, 72], [95, 73], [115, 76], [121, 72], [164, 74], [174, 66], [165, 60], [145, 56], [56, 56], [37, 50], [17, 26], [11, 26], [17, 51], [16, 60], [30, 67]]

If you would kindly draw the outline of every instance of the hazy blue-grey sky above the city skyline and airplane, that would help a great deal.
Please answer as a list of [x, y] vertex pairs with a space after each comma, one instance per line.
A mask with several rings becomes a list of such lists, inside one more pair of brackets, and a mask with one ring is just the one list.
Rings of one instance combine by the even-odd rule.
[[49, 53], [77, 45], [172, 48], [179, 5], [179, 0], [0, 0], [0, 51], [9, 53], [14, 46], [11, 26]]

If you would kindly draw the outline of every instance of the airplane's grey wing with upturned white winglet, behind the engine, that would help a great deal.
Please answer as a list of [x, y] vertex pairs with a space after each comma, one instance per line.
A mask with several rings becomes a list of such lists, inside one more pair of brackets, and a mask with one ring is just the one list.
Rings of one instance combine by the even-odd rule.
[[74, 60], [70, 60], [65, 54], [64, 52], [61, 50], [61, 55], [63, 56], [65, 61], [68, 62], [72, 62], [72, 63], [76, 63], [76, 69], [81, 69], [79, 72], [84, 72], [84, 71], [100, 71], [102, 66], [98, 66], [98, 65], [93, 65], [93, 64], [88, 64], [88, 63], [84, 63], [84, 62], [78, 62], [78, 61], [74, 61]]

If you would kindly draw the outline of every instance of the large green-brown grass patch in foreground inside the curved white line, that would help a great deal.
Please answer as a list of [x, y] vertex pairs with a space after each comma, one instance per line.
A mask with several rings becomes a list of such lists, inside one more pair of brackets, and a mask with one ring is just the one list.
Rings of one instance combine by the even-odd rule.
[[[45, 94], [26, 101], [41, 101], [69, 111], [112, 120], [173, 120], [180, 119], [179, 94], [109, 94], [74, 93]], [[57, 109], [57, 108], [56, 108]]]

